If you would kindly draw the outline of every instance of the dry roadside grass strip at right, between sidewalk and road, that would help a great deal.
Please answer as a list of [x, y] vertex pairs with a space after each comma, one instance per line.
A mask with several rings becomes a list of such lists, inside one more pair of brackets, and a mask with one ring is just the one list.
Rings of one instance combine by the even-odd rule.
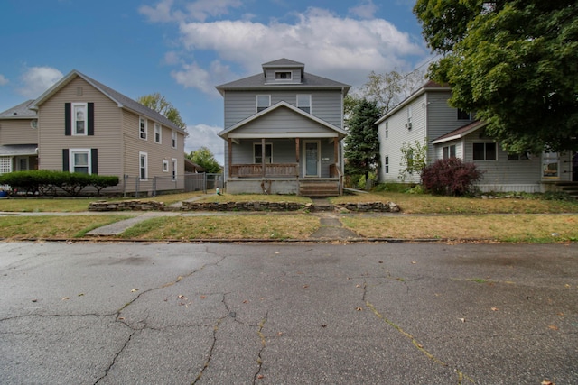
[[356, 233], [371, 238], [578, 241], [578, 215], [351, 215], [341, 221]]

